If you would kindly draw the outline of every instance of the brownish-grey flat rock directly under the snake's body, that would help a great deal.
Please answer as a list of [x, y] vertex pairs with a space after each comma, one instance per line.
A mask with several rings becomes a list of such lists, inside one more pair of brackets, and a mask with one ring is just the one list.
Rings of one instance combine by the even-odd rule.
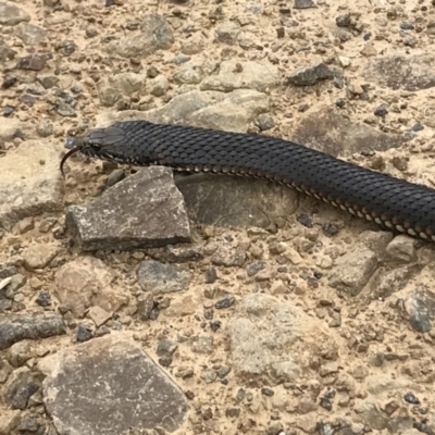
[[269, 227], [298, 208], [295, 190], [263, 179], [195, 174], [176, 185], [190, 219], [206, 225]]

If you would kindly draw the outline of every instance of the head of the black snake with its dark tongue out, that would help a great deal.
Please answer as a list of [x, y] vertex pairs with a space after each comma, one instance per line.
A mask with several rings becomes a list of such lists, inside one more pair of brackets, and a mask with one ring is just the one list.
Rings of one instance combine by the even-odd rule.
[[60, 170], [62, 175], [64, 175], [63, 165], [66, 160], [77, 151], [88, 157], [122, 162], [119, 152], [122, 148], [124, 137], [125, 132], [117, 127], [96, 128], [84, 136], [67, 137], [65, 148], [70, 148], [70, 151], [61, 160]]

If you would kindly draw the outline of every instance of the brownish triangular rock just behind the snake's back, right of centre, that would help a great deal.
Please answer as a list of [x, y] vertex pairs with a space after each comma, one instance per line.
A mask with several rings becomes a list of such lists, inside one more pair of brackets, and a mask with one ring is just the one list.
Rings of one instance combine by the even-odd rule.
[[334, 157], [351, 156], [362, 150], [386, 151], [403, 142], [401, 136], [351, 123], [326, 105], [306, 113], [296, 125], [291, 140]]

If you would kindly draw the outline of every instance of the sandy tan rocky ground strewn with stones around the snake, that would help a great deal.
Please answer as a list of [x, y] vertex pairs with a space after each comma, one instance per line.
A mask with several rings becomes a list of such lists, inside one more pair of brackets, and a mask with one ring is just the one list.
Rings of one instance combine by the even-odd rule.
[[59, 161], [145, 119], [433, 186], [435, 2], [42, 3], [0, 1], [0, 434], [434, 434], [433, 245], [263, 181]]

